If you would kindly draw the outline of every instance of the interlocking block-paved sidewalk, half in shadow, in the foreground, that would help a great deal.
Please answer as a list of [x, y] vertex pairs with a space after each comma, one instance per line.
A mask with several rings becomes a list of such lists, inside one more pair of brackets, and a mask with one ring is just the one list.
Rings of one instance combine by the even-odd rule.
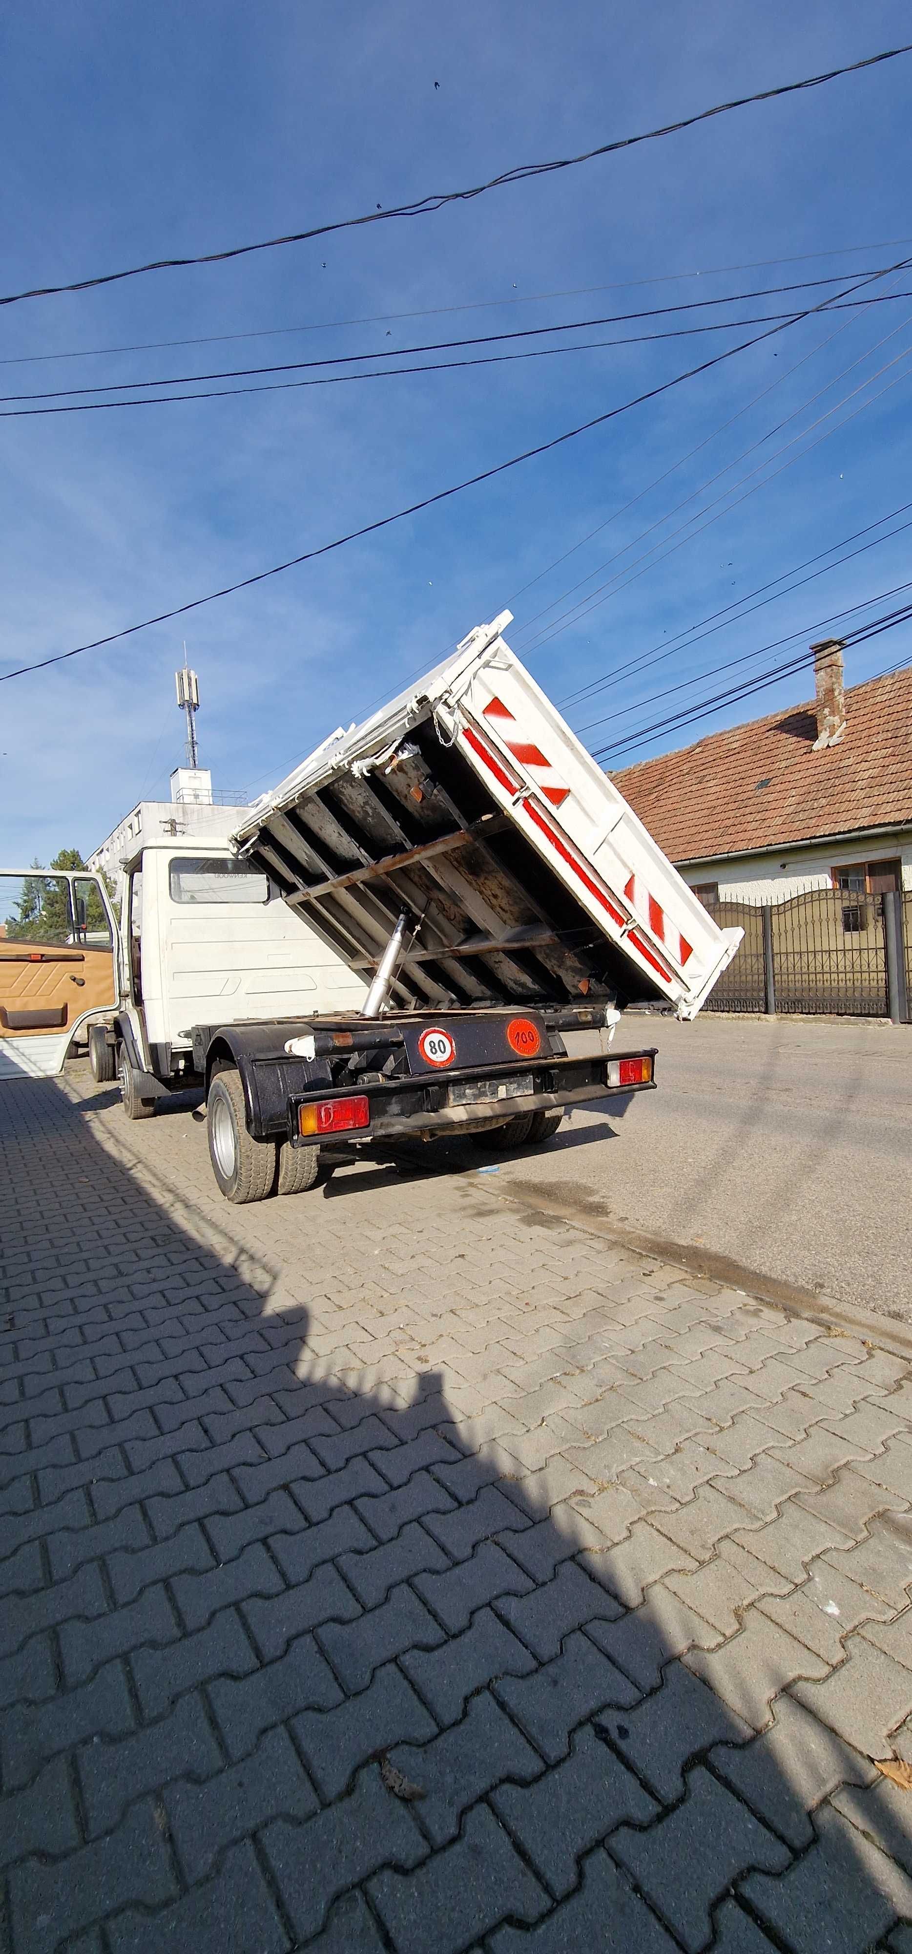
[[109, 1100], [0, 1086], [0, 1946], [908, 1954], [904, 1362]]

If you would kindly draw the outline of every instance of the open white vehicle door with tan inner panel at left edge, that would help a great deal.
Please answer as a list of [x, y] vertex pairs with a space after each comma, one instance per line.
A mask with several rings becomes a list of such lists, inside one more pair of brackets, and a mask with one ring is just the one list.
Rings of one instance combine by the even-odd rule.
[[98, 875], [0, 870], [0, 1079], [51, 1079], [113, 1008], [115, 924]]

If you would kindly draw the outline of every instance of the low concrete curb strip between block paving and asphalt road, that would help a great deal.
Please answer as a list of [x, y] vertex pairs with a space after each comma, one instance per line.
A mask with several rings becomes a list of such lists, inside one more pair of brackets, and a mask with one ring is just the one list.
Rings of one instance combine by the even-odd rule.
[[553, 1194], [541, 1194], [537, 1188], [525, 1188], [518, 1182], [508, 1188], [492, 1188], [486, 1182], [478, 1182], [478, 1188], [492, 1200], [568, 1221], [590, 1235], [605, 1235], [607, 1241], [631, 1249], [633, 1254], [648, 1254], [670, 1262], [672, 1268], [684, 1268], [689, 1276], [719, 1282], [726, 1290], [742, 1290], [744, 1296], [752, 1296], [760, 1303], [769, 1303], [789, 1317], [807, 1317], [810, 1323], [857, 1337], [861, 1342], [873, 1344], [877, 1350], [889, 1350], [891, 1356], [908, 1358], [912, 1364], [912, 1329], [904, 1323], [894, 1323], [892, 1317], [881, 1317], [873, 1309], [842, 1303], [836, 1296], [820, 1296], [816, 1290], [777, 1282], [775, 1276], [764, 1276], [756, 1268], [734, 1262], [728, 1254], [715, 1254], [713, 1249], [697, 1249], [689, 1243], [666, 1241], [662, 1235], [641, 1235], [637, 1229], [619, 1227], [613, 1221], [605, 1221], [598, 1202], [592, 1202], [590, 1208], [586, 1202], [559, 1200]]

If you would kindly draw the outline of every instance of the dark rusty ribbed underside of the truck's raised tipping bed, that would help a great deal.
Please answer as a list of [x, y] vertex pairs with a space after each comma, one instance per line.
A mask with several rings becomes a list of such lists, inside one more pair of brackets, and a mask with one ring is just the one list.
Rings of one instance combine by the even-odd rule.
[[340, 770], [273, 809], [244, 854], [367, 979], [422, 916], [393, 1002], [555, 1006], [662, 997], [592, 922], [426, 719], [385, 770]]

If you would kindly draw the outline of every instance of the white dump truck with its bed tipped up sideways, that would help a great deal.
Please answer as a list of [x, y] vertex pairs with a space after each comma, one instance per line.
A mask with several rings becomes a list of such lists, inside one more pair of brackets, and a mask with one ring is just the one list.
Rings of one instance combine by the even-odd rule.
[[654, 1049], [611, 1049], [623, 1010], [693, 1018], [738, 948], [508, 623], [334, 733], [225, 842], [162, 834], [123, 862], [92, 1069], [133, 1120], [203, 1086], [230, 1202], [305, 1190], [352, 1147], [519, 1147], [652, 1090]]

